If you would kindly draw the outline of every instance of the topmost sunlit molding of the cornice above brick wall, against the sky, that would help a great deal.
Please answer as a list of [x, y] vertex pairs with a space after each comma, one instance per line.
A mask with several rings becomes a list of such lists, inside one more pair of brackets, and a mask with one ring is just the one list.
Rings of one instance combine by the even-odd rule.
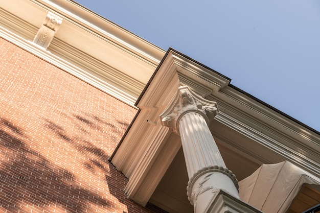
[[124, 52], [148, 61], [157, 66], [165, 51], [156, 45], [116, 25], [106, 18], [89, 11], [74, 1], [30, 0], [39, 7], [56, 12], [63, 19], [96, 37], [118, 46]]

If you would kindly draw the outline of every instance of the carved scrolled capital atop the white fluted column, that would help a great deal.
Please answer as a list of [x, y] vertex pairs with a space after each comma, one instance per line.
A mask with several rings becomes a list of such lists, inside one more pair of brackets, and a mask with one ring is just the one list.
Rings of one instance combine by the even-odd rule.
[[188, 112], [201, 114], [209, 126], [218, 114], [218, 107], [216, 102], [203, 99], [191, 91], [188, 86], [180, 86], [175, 100], [160, 115], [162, 125], [172, 128], [175, 133], [179, 134], [179, 120]]

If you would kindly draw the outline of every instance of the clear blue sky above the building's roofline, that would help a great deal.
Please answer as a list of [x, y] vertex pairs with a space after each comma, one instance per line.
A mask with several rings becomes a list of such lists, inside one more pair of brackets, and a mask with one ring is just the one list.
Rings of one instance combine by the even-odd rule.
[[320, 131], [320, 1], [76, 1]]

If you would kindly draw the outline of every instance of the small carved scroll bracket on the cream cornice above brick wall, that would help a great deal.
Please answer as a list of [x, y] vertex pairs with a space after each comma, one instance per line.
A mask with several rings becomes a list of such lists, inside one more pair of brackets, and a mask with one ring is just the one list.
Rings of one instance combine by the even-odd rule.
[[62, 18], [48, 12], [33, 42], [47, 49], [62, 23]]

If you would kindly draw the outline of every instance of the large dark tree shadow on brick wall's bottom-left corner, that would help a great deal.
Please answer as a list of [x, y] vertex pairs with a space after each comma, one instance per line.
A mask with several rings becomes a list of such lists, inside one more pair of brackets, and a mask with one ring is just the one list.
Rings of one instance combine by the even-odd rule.
[[22, 202], [39, 211], [56, 205], [67, 212], [86, 212], [91, 204], [115, 205], [75, 184], [71, 172], [45, 159], [27, 141], [23, 129], [0, 119], [0, 204], [4, 209], [23, 211]]

